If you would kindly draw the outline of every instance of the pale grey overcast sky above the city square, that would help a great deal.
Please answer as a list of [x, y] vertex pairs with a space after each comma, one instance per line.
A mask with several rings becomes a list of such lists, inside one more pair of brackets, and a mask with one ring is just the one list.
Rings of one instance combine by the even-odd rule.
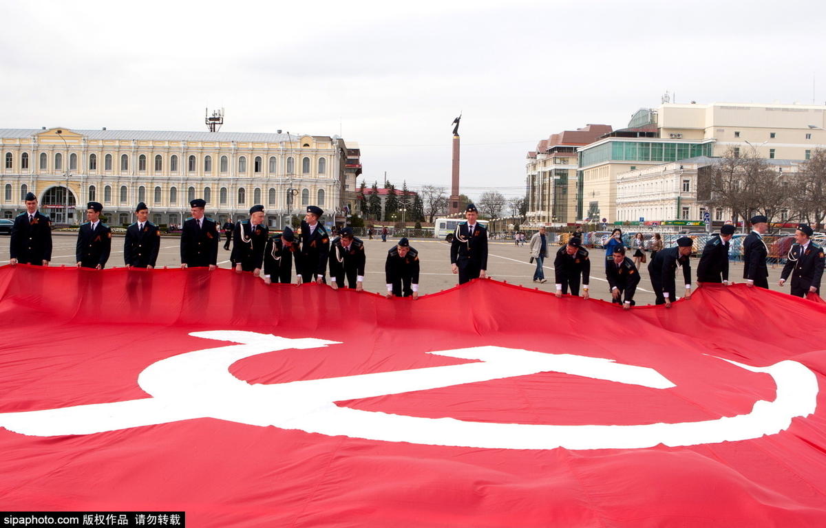
[[[0, 2], [0, 128], [333, 135], [364, 177], [525, 190], [525, 153], [677, 102], [824, 104], [820, 2]], [[813, 88], [813, 78], [815, 79]]]

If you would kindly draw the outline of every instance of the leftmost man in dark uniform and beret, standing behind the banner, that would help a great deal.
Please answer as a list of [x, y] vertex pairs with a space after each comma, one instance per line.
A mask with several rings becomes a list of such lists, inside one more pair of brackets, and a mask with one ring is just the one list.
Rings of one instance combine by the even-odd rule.
[[37, 210], [37, 196], [26, 194], [26, 212], [17, 215], [9, 242], [9, 264], [18, 262], [49, 266], [51, 260], [51, 220]]

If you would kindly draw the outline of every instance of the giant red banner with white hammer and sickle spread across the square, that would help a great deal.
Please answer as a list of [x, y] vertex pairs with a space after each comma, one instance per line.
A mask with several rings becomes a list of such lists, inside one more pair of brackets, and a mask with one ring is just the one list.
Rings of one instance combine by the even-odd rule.
[[0, 509], [189, 526], [824, 526], [826, 305], [418, 300], [0, 268]]

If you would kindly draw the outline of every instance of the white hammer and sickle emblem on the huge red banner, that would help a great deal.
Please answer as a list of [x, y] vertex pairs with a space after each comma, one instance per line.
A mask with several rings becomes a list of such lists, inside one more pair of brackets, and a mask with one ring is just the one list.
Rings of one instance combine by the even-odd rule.
[[230, 375], [244, 357], [290, 348], [338, 344], [322, 339], [288, 339], [257, 332], [192, 332], [194, 337], [242, 343], [192, 351], [157, 361], [138, 376], [151, 398], [116, 403], [0, 413], [0, 426], [25, 435], [83, 435], [192, 418], [212, 417], [255, 426], [344, 435], [378, 441], [498, 449], [629, 449], [738, 441], [776, 434], [793, 417], [814, 413], [817, 379], [796, 361], [752, 367], [777, 385], [774, 402], [757, 401], [751, 413], [704, 422], [631, 426], [556, 426], [468, 422], [362, 411], [335, 402], [436, 389], [539, 372], [563, 372], [654, 389], [675, 385], [656, 370], [570, 354], [545, 354], [504, 347], [431, 352], [480, 362], [397, 370], [283, 384], [248, 384]]

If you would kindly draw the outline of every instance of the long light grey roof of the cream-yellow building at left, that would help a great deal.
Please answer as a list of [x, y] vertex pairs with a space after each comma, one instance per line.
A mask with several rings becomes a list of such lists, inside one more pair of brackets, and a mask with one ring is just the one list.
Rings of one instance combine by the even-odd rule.
[[[71, 130], [88, 139], [154, 139], [156, 141], [261, 141], [280, 142], [295, 140], [306, 134], [277, 134], [266, 132], [207, 132], [178, 130]], [[0, 129], [0, 138], [28, 138], [40, 134], [42, 129]], [[316, 139], [329, 136], [312, 136]]]

